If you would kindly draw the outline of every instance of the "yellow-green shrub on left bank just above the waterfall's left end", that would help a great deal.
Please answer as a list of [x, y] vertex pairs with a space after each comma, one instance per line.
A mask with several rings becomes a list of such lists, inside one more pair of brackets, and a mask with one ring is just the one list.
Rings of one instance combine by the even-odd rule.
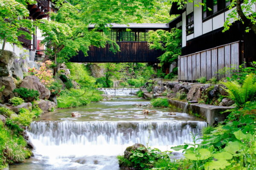
[[13, 120], [18, 125], [29, 126], [34, 117], [35, 117], [34, 112], [31, 112], [25, 108], [21, 108], [18, 116], [13, 118]]

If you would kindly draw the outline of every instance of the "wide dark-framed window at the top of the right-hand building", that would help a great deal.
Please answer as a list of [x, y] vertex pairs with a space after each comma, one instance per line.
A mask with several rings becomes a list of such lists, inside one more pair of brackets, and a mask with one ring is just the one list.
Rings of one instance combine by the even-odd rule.
[[206, 4], [202, 8], [203, 19], [205, 19], [226, 9], [230, 5], [230, 0], [203, 0], [203, 3]]

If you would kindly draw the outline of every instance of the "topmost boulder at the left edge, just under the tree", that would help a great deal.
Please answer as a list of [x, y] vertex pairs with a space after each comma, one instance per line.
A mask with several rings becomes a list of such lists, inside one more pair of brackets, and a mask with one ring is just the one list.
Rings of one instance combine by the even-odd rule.
[[3, 55], [0, 57], [0, 76], [12, 76], [11, 68], [16, 57], [12, 51], [3, 51]]

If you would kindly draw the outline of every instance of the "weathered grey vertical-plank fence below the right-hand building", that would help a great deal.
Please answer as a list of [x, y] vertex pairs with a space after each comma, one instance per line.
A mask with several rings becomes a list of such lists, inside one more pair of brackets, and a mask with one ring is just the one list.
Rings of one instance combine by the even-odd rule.
[[241, 48], [242, 42], [237, 41], [178, 57], [178, 79], [181, 81], [195, 81], [200, 77], [206, 77], [207, 80], [212, 77], [218, 80], [222, 79], [229, 73], [219, 74], [219, 70], [239, 68], [242, 56]]

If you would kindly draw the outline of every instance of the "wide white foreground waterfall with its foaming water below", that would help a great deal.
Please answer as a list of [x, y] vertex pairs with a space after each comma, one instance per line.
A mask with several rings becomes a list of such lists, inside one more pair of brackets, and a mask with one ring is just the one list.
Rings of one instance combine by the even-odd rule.
[[105, 170], [105, 166], [112, 165], [114, 170], [118, 167], [113, 167], [117, 164], [113, 159], [104, 165], [76, 161], [88, 156], [109, 159], [122, 155], [134, 143], [170, 150], [171, 146], [191, 143], [191, 133], [200, 135], [206, 125], [201, 121], [33, 122], [28, 134], [36, 147], [35, 156], [45, 159], [52, 169], [81, 166], [85, 170]]

